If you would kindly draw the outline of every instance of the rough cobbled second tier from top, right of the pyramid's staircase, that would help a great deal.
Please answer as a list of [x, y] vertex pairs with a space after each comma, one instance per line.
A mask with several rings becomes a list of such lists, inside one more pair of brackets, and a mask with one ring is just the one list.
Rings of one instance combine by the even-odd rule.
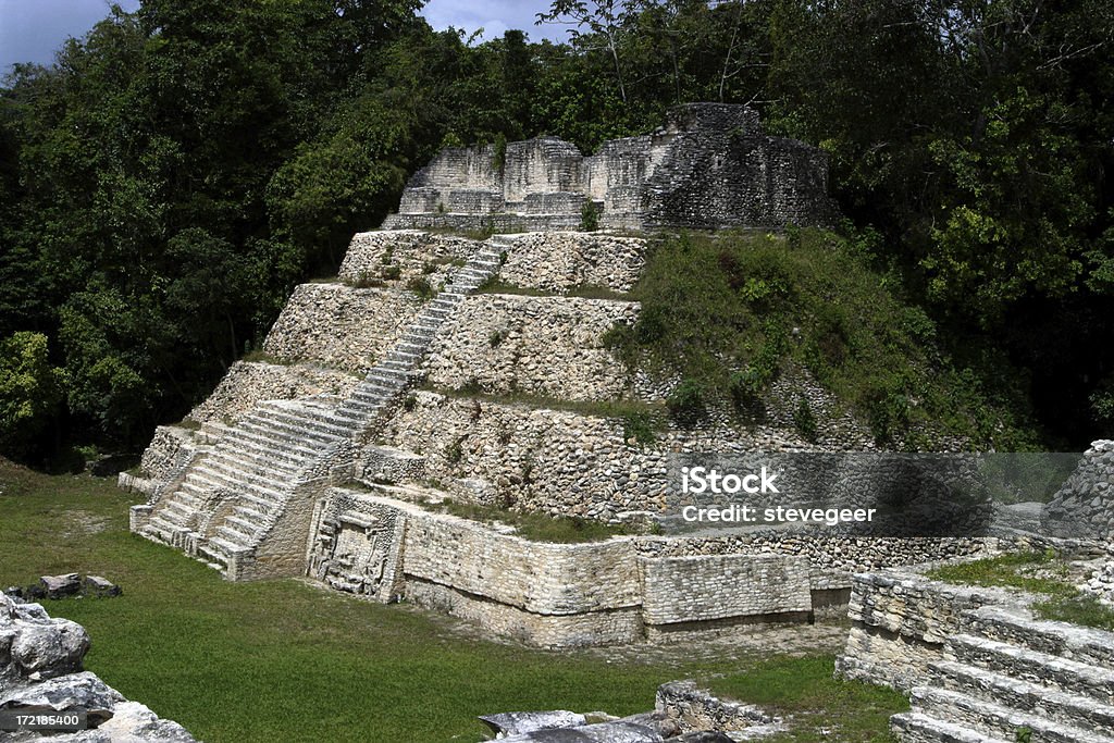
[[476, 294], [438, 332], [427, 382], [489, 394], [622, 398], [631, 375], [602, 339], [616, 322], [634, 322], [637, 312], [631, 302]]

